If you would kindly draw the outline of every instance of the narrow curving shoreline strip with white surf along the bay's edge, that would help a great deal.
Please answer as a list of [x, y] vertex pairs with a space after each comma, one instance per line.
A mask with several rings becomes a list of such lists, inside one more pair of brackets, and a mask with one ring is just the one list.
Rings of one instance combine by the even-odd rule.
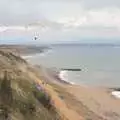
[[[41, 52], [41, 53], [36, 53], [36, 54], [28, 54], [28, 55], [21, 55], [21, 57], [23, 58], [23, 59], [25, 59], [25, 60], [29, 60], [29, 58], [31, 58], [31, 57], [34, 57], [34, 56], [36, 56], [36, 55], [41, 55], [41, 54], [44, 54], [45, 52]], [[29, 61], [28, 61], [29, 62]], [[32, 62], [30, 62], [30, 64], [31, 64]], [[33, 64], [34, 66], [40, 66], [40, 68], [42, 67], [42, 69], [44, 69], [44, 71], [46, 71], [47, 72], [47, 74], [51, 74], [52, 75], [52, 77], [54, 78], [54, 79], [56, 79], [57, 81], [59, 81], [59, 82], [61, 82], [61, 83], [65, 83], [65, 84], [68, 84], [68, 85], [76, 85], [76, 86], [88, 86], [88, 87], [99, 87], [99, 88], [105, 88], [105, 89], [112, 89], [112, 90], [118, 90], [118, 89], [120, 89], [119, 87], [108, 87], [108, 86], [102, 86], [102, 85], [94, 85], [94, 86], [92, 86], [92, 85], [83, 85], [83, 84], [76, 84], [76, 83], [74, 83], [74, 82], [72, 82], [72, 81], [69, 81], [65, 76], [67, 76], [66, 74], [67, 74], [67, 72], [68, 72], [68, 70], [66, 70], [66, 69], [63, 69], [63, 68], [46, 68], [45, 66], [43, 66], [43, 65], [39, 65], [39, 64]], [[71, 69], [70, 69], [71, 70]], [[81, 69], [80, 69], [81, 70]], [[49, 75], [50, 75], [49, 74]], [[119, 90], [120, 91], [120, 90]]]

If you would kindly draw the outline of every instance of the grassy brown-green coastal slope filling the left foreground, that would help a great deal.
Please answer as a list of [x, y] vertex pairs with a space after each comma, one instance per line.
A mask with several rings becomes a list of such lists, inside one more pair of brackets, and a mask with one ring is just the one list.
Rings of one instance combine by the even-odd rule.
[[50, 96], [35, 87], [30, 68], [20, 57], [0, 51], [0, 119], [60, 120]]

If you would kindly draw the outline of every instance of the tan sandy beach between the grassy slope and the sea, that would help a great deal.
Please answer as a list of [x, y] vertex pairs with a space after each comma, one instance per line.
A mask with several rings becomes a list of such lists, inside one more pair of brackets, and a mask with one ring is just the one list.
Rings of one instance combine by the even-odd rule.
[[[80, 85], [66, 85], [54, 74], [42, 68], [44, 79], [60, 86], [62, 101], [76, 114], [76, 120], [120, 120], [120, 99], [111, 95], [112, 89]], [[61, 90], [64, 88], [64, 91]], [[62, 107], [62, 104], [61, 104]]]

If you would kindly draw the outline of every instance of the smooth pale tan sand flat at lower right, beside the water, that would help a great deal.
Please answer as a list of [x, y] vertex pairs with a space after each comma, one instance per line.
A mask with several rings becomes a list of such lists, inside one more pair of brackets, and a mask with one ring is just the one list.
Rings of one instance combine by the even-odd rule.
[[[120, 120], [120, 99], [111, 95], [112, 90], [102, 87], [70, 86], [67, 91], [73, 94], [90, 111], [101, 119]], [[81, 108], [80, 108], [81, 109]]]

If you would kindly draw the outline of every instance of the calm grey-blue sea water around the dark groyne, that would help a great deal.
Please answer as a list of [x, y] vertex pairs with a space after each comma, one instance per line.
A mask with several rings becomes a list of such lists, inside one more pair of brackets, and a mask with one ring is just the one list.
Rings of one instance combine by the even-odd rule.
[[46, 67], [81, 68], [80, 72], [67, 72], [68, 81], [76, 84], [120, 87], [119, 46], [53, 46], [29, 60]]

